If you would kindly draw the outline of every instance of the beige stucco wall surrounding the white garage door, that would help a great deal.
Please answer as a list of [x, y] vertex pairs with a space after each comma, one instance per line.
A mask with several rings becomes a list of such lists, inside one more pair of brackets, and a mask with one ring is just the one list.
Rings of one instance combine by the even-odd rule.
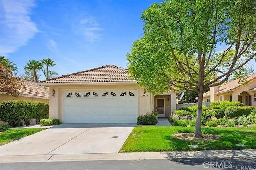
[[[55, 90], [55, 96], [52, 96], [51, 91]], [[152, 94], [146, 91], [144, 95], [144, 88], [138, 85], [65, 85], [65, 86], [50, 86], [50, 103], [49, 103], [49, 117], [60, 119], [63, 121], [63, 91], [64, 90], [119, 90], [119, 89], [135, 89], [138, 91], [138, 115], [145, 115], [151, 112], [152, 108]]]

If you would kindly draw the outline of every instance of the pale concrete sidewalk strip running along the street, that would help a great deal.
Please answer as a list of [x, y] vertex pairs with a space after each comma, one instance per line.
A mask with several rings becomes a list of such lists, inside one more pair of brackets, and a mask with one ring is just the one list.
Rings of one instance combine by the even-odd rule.
[[204, 150], [180, 152], [134, 152], [134, 153], [105, 153], [105, 154], [48, 154], [27, 156], [0, 156], [0, 163], [8, 162], [60, 162], [60, 161], [89, 161], [89, 160], [149, 160], [173, 158], [255, 158], [256, 149], [250, 150]]

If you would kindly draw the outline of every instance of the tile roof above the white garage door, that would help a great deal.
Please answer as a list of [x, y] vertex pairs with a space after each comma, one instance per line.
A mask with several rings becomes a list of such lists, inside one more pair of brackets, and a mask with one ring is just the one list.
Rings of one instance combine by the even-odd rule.
[[97, 83], [97, 82], [131, 82], [136, 80], [128, 76], [128, 70], [115, 65], [80, 71], [68, 75], [62, 75], [40, 83]]

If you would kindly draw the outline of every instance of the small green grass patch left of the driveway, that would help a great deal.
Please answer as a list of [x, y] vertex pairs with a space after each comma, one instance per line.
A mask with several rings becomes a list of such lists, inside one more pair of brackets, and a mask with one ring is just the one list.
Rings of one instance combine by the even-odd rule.
[[10, 129], [5, 132], [0, 133], [0, 145], [6, 144], [8, 142], [12, 142], [14, 140], [18, 140], [20, 138], [24, 138], [36, 132], [40, 132], [44, 130], [40, 129]]

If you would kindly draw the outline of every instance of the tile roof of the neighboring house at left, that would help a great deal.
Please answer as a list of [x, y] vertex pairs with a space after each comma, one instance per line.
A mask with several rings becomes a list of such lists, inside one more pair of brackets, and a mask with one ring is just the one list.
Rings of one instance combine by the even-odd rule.
[[34, 81], [19, 78], [26, 85], [25, 89], [18, 89], [21, 95], [32, 95], [38, 97], [49, 97], [49, 88], [40, 86]]

